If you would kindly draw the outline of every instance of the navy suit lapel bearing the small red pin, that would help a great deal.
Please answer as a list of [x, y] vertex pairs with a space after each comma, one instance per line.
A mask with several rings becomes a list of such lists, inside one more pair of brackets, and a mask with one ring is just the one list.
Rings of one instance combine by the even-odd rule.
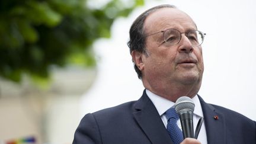
[[226, 125], [224, 115], [216, 111], [212, 105], [205, 103], [200, 96], [199, 100], [204, 115], [207, 143], [226, 143]]

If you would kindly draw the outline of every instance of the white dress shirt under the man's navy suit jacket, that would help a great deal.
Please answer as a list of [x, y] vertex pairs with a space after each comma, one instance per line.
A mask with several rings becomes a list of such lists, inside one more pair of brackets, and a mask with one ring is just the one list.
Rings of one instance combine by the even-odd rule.
[[[175, 103], [172, 102], [172, 101], [169, 101], [165, 98], [162, 98], [162, 97], [160, 97], [156, 94], [153, 94], [148, 89], [146, 89], [146, 94], [151, 99], [152, 103], [155, 105], [156, 110], [159, 113], [159, 116], [161, 116], [161, 119], [162, 119], [165, 127], [167, 127], [167, 117], [165, 116], [165, 111], [167, 111], [169, 108], [171, 108]], [[195, 104], [194, 114], [193, 114], [193, 126], [194, 126], [194, 131], [195, 131], [199, 119], [201, 117], [203, 117], [203, 110], [201, 109], [201, 104], [200, 104], [200, 101], [199, 101], [199, 97], [197, 95], [195, 97], [193, 97], [192, 100]], [[177, 125], [181, 129], [180, 120], [177, 121]], [[199, 136], [197, 137], [197, 139], [202, 144], [207, 144], [206, 128], [205, 128], [204, 122], [201, 126], [201, 130], [200, 130], [200, 133], [199, 133]]]

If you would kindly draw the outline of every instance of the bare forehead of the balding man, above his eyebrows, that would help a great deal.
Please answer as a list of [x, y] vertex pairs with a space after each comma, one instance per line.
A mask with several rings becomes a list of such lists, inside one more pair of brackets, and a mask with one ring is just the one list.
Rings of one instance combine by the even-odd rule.
[[175, 8], [161, 8], [152, 12], [146, 18], [143, 28], [145, 33], [155, 33], [168, 28], [180, 31], [197, 29], [190, 16]]

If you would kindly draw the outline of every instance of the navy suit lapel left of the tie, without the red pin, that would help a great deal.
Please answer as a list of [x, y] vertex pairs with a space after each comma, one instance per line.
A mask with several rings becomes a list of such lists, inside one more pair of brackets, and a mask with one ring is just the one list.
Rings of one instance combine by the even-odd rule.
[[151, 140], [151, 143], [172, 144], [171, 137], [169, 137], [155, 105], [146, 95], [146, 91], [143, 92], [142, 97], [135, 103], [134, 108], [133, 116], [143, 132]]

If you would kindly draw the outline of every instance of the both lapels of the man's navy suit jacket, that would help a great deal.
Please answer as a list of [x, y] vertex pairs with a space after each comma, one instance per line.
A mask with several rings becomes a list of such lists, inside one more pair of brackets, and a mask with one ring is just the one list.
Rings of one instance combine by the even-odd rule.
[[[206, 126], [207, 143], [226, 143], [226, 125], [225, 117], [217, 111], [213, 105], [204, 102], [199, 95], [201, 108], [204, 115], [204, 123]], [[143, 132], [151, 140], [152, 144], [172, 144], [164, 123], [152, 101], [143, 91], [142, 97], [133, 105], [133, 116], [143, 130]]]

